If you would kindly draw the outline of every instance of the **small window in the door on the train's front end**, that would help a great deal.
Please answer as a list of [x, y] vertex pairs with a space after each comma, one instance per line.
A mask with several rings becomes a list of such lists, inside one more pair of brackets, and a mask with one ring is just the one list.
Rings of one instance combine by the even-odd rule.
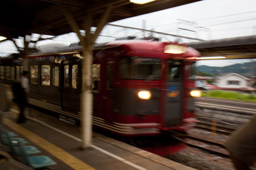
[[183, 61], [168, 60], [168, 81], [181, 80], [183, 77]]

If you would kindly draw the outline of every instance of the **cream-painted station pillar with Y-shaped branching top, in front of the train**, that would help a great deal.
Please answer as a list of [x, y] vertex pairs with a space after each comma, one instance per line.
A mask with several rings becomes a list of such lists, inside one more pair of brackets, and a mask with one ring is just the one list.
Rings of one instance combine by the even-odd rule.
[[83, 46], [83, 63], [82, 63], [82, 91], [80, 94], [80, 136], [82, 143], [80, 148], [84, 149], [92, 145], [92, 113], [93, 113], [93, 95], [92, 95], [92, 49], [95, 40], [99, 36], [104, 25], [107, 23], [112, 7], [106, 8], [104, 14], [98, 22], [97, 29], [93, 35], [90, 34], [90, 27], [92, 27], [92, 15], [86, 14], [83, 27], [85, 27], [85, 37], [82, 36], [79, 30], [79, 25], [74, 20], [69, 9], [63, 5], [58, 4], [61, 12], [65, 15], [71, 29], [77, 34]]

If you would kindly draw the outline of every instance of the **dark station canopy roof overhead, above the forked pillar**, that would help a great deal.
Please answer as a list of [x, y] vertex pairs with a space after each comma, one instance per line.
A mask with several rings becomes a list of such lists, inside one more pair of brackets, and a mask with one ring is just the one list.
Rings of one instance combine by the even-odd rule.
[[2, 0], [0, 36], [12, 40], [32, 33], [58, 36], [72, 32], [58, 4], [66, 5], [82, 30], [86, 14], [92, 15], [92, 25], [96, 26], [110, 6], [113, 9], [108, 23], [196, 1], [199, 0], [156, 0], [140, 5], [129, 0]]

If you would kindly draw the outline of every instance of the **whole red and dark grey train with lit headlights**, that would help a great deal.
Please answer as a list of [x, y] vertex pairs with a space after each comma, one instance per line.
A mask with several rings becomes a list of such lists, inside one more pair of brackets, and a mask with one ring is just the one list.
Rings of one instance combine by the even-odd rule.
[[[196, 57], [199, 53], [185, 44], [148, 40], [97, 44], [92, 65], [93, 126], [158, 155], [179, 149], [180, 145], [171, 146], [171, 136], [195, 124], [193, 97], [200, 95], [194, 81]], [[0, 78], [10, 75], [6, 68], [0, 66]], [[81, 46], [30, 54], [29, 104], [79, 120], [81, 70]]]

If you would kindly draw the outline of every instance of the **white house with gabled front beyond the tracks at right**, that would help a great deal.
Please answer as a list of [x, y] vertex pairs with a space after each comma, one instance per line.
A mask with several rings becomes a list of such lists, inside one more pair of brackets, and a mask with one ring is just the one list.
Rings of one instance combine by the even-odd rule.
[[248, 89], [250, 79], [237, 73], [228, 73], [227, 75], [216, 78], [216, 85], [224, 89]]

